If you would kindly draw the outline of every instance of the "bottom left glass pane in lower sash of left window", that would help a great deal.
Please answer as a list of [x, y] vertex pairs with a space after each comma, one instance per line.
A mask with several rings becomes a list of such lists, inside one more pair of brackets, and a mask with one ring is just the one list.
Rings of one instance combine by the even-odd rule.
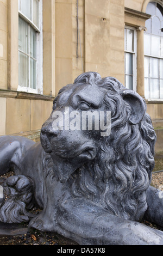
[[28, 87], [28, 57], [21, 52], [18, 53], [18, 74], [18, 84]]

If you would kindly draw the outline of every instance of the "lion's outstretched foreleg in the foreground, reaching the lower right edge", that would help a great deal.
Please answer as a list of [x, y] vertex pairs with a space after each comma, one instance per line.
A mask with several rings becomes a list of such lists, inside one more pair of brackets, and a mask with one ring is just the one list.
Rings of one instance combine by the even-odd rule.
[[163, 232], [108, 214], [84, 199], [60, 202], [58, 233], [80, 245], [163, 245]]

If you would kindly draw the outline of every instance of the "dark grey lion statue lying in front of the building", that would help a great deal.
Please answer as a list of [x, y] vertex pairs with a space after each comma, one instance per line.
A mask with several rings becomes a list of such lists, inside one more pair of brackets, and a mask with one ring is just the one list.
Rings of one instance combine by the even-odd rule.
[[[88, 118], [80, 123], [83, 113], [93, 113], [92, 129]], [[150, 186], [156, 136], [139, 94], [86, 72], [58, 93], [40, 141], [0, 137], [1, 174], [14, 171], [3, 184], [1, 222], [26, 221], [79, 245], [163, 245], [163, 232], [141, 223], [163, 226], [163, 200]]]

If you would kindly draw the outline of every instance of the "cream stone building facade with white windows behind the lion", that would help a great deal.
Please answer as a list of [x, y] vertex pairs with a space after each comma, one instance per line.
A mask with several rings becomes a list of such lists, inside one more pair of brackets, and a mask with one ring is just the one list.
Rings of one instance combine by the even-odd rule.
[[0, 136], [39, 140], [60, 88], [86, 71], [147, 102], [163, 151], [162, 0], [0, 0]]

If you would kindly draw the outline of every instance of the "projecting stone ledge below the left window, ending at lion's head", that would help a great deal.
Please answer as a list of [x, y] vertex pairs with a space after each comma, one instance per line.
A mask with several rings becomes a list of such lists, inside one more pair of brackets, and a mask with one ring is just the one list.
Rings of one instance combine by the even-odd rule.
[[26, 92], [18, 92], [15, 90], [3, 90], [0, 89], [0, 97], [11, 97], [16, 99], [29, 99], [29, 100], [46, 100], [53, 101], [53, 96], [35, 94], [35, 93], [26, 93]]

